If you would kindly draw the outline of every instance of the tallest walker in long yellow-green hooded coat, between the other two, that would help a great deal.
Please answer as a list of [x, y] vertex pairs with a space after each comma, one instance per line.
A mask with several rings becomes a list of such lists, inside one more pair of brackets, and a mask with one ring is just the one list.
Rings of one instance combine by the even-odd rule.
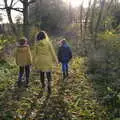
[[51, 94], [51, 71], [53, 65], [57, 63], [57, 57], [53, 46], [44, 31], [41, 31], [37, 34], [34, 55], [34, 66], [40, 71], [42, 88], [45, 88], [46, 74], [48, 80], [48, 93]]

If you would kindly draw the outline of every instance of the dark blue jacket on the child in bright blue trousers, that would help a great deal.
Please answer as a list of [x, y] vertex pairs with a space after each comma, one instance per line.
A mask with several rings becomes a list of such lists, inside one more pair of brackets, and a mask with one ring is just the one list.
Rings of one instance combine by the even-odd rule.
[[62, 63], [68, 63], [72, 58], [72, 51], [70, 47], [65, 43], [58, 49], [58, 60]]

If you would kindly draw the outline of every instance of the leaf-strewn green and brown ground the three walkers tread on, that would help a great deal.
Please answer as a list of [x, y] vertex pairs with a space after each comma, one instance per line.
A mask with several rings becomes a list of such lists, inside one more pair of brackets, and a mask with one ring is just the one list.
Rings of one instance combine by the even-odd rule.
[[69, 77], [64, 81], [60, 66], [55, 67], [49, 98], [41, 89], [38, 73], [31, 73], [28, 88], [18, 88], [18, 68], [0, 65], [0, 120], [109, 120], [92, 80], [85, 74], [85, 59], [72, 60]]

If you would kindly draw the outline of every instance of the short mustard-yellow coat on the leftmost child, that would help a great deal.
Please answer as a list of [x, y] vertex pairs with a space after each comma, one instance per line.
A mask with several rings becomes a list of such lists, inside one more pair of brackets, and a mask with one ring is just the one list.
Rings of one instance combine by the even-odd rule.
[[30, 47], [26, 46], [18, 46], [15, 52], [16, 64], [19, 66], [25, 66], [32, 64], [32, 56]]

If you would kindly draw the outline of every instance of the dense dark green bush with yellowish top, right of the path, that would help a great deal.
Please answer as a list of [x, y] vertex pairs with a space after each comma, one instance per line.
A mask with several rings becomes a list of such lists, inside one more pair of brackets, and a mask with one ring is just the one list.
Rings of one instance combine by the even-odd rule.
[[107, 106], [110, 119], [120, 119], [120, 34], [99, 34], [99, 47], [88, 60], [88, 74], [101, 103]]

